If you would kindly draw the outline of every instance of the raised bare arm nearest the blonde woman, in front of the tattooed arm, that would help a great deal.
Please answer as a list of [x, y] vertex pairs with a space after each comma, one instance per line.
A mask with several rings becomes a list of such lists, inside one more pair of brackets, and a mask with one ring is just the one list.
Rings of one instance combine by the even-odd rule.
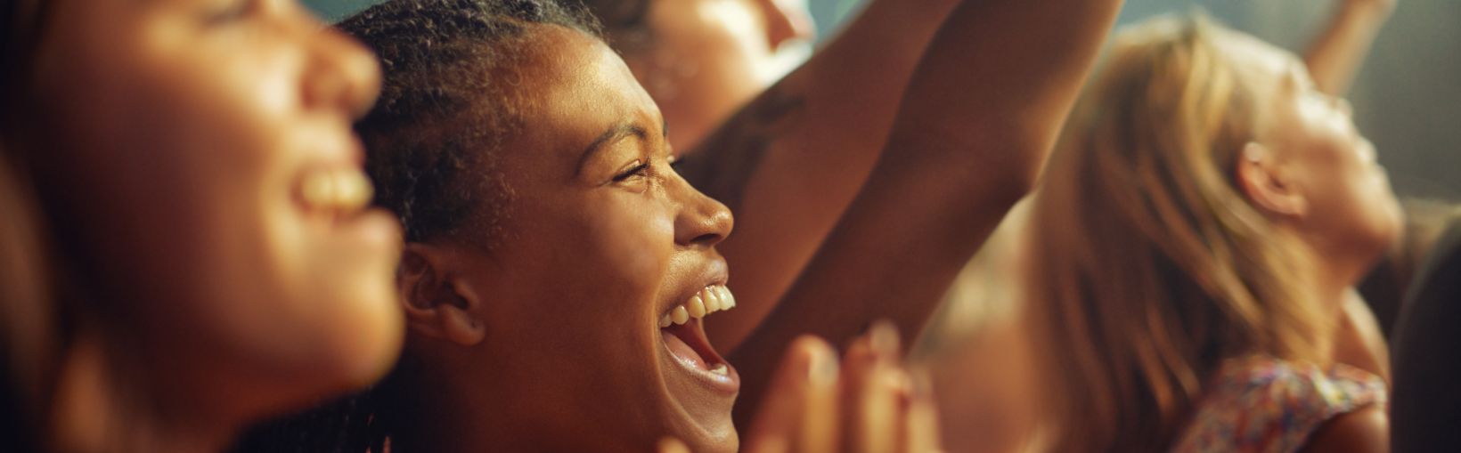
[[[916, 336], [1033, 186], [1121, 0], [967, 0], [913, 75], [885, 151], [825, 244], [730, 361], [754, 414], [780, 349], [875, 319]], [[808, 172], [817, 168], [808, 168]]]

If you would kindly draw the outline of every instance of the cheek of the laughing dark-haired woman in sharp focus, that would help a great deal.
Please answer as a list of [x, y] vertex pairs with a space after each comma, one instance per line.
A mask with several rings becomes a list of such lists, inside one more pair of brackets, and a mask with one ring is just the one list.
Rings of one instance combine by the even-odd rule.
[[[497, 282], [516, 313], [506, 319], [536, 319], [573, 324], [579, 332], [622, 332], [649, 320], [674, 253], [674, 222], [644, 194], [618, 189], [552, 194], [517, 187], [511, 209], [513, 243], [497, 254], [510, 273]], [[562, 317], [536, 307], [573, 307]], [[573, 332], [573, 330], [567, 330]]]

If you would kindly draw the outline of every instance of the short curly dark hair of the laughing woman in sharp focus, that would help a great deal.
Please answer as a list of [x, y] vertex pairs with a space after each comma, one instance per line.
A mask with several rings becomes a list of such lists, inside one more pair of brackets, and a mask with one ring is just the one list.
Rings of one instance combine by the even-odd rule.
[[380, 56], [380, 101], [355, 129], [375, 202], [400, 216], [406, 241], [463, 225], [500, 238], [511, 187], [495, 153], [523, 126], [529, 94], [508, 80], [535, 25], [600, 37], [577, 0], [392, 0], [339, 23]]

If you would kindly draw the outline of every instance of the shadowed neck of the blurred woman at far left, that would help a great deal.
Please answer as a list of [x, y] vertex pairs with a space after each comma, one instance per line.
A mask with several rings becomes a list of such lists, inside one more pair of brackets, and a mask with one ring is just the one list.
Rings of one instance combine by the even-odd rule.
[[[95, 335], [79, 335], [56, 389], [50, 440], [56, 452], [222, 452], [240, 422], [167, 395], [129, 371]], [[131, 368], [137, 362], [131, 362]]]

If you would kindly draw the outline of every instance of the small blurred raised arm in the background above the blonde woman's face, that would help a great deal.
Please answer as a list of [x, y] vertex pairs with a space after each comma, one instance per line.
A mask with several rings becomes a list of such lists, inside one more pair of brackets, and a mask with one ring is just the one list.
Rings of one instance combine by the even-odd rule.
[[1305, 53], [1319, 91], [1344, 95], [1398, 0], [1337, 0], [1330, 26]]

